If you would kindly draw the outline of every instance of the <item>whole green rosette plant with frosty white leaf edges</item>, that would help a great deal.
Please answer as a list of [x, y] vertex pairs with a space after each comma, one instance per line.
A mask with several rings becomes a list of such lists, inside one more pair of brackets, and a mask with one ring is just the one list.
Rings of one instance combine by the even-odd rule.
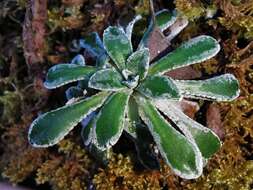
[[[163, 31], [176, 19], [169, 11], [158, 12], [156, 22], [151, 21], [139, 46], [133, 50], [132, 30], [140, 18], [137, 16], [126, 28], [109, 26], [103, 42], [96, 33], [80, 41], [82, 47], [95, 55], [96, 66], [85, 65], [79, 55], [71, 63], [49, 69], [44, 83], [49, 89], [83, 81], [83, 86], [95, 91], [38, 116], [30, 126], [29, 142], [34, 147], [55, 145], [88, 118], [82, 131], [85, 144], [103, 151], [117, 143], [123, 131], [138, 138], [138, 129], [144, 127], [177, 175], [197, 178], [205, 160], [219, 149], [221, 142], [209, 128], [186, 116], [177, 102], [184, 97], [231, 101], [239, 95], [238, 81], [232, 74], [207, 80], [173, 80], [163, 75], [215, 56], [220, 50], [219, 43], [201, 35], [151, 63], [146, 44], [152, 30], [157, 27]], [[79, 87], [71, 87], [67, 92], [70, 97], [82, 94]]]

